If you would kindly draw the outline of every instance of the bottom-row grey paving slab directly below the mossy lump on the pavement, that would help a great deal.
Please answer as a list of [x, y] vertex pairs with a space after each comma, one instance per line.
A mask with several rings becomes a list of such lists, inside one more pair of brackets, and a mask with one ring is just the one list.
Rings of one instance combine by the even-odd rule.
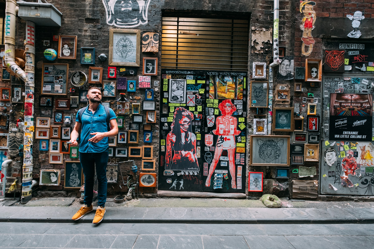
[[243, 237], [251, 249], [268, 249], [274, 248], [275, 245], [276, 248], [294, 249], [284, 236], [254, 235]]

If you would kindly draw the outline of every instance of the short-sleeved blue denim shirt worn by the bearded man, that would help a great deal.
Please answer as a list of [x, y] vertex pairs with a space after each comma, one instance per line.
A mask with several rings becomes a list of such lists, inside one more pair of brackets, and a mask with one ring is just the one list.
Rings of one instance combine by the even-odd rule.
[[[109, 108], [109, 115], [111, 119], [116, 118], [116, 113]], [[81, 153], [98, 153], [108, 150], [108, 137], [104, 137], [101, 141], [97, 143], [93, 143], [88, 141], [95, 135], [91, 135], [90, 133], [94, 132], [107, 132], [107, 113], [105, 112], [104, 106], [99, 104], [95, 113], [92, 114], [91, 111], [88, 110], [88, 106], [84, 109], [82, 120], [79, 120], [79, 111], [76, 116], [76, 122], [82, 124], [82, 129], [80, 131], [80, 145], [79, 145], [79, 152]]]

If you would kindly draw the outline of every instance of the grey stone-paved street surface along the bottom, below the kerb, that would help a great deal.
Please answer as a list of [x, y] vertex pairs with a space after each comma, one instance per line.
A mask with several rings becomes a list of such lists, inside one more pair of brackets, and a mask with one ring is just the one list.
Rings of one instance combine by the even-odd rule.
[[1, 222], [0, 248], [374, 249], [374, 225]]

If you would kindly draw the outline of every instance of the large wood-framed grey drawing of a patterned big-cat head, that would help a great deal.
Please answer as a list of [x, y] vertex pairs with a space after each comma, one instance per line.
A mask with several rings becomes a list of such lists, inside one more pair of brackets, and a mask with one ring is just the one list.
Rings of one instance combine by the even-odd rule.
[[289, 136], [251, 135], [250, 165], [289, 166], [289, 140]]

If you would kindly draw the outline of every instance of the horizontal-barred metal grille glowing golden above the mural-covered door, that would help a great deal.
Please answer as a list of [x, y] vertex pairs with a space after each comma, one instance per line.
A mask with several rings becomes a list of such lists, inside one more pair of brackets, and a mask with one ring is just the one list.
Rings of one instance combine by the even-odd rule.
[[248, 68], [248, 20], [162, 18], [162, 68]]

